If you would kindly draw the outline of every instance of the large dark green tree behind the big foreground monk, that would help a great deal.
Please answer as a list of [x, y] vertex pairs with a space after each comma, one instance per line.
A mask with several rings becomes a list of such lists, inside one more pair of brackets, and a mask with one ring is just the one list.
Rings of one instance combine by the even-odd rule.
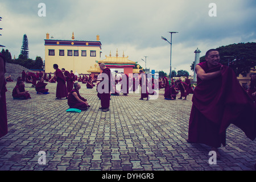
[[[237, 76], [249, 73], [250, 68], [256, 66], [256, 43], [230, 44], [216, 49], [220, 53], [220, 63], [232, 68]], [[205, 56], [200, 57], [200, 63], [203, 61]], [[194, 62], [191, 65], [192, 71]]]

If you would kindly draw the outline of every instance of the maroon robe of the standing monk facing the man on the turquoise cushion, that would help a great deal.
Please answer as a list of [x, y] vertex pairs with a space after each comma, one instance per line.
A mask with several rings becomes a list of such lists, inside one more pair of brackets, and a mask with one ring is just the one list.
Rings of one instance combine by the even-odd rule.
[[[111, 80], [111, 72], [110, 72], [110, 69], [109, 68], [105, 68], [102, 73], [105, 73], [106, 75], [108, 75], [108, 83], [109, 83], [109, 90], [107, 93], [101, 93], [100, 96], [101, 96], [101, 107], [104, 108], [104, 109], [107, 109], [109, 108], [109, 105], [110, 105], [110, 80]], [[102, 78], [101, 82], [104, 80], [104, 78]], [[103, 88], [103, 87], [102, 87]]]

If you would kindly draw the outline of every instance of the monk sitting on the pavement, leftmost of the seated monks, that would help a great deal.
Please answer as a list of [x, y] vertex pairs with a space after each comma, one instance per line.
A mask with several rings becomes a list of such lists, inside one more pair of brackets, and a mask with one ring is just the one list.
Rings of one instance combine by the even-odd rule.
[[28, 91], [25, 91], [25, 85], [22, 80], [17, 81], [17, 84], [13, 89], [13, 98], [18, 100], [27, 100], [28, 98], [31, 98]]

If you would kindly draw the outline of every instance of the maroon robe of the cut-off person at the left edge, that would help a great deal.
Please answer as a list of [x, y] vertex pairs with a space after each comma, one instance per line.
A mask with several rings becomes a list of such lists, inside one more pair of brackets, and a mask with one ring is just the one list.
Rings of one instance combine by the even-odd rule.
[[[5, 57], [0, 53], [4, 61], [5, 67]], [[7, 125], [7, 109], [6, 109], [6, 81], [3, 80], [2, 90], [0, 90], [1, 99], [0, 99], [0, 138], [5, 136], [8, 133], [8, 125]]]

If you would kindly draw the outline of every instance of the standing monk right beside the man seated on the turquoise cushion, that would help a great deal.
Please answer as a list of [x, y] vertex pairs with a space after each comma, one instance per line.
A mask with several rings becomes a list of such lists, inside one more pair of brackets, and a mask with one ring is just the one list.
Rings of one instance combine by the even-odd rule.
[[[106, 67], [106, 65], [104, 63], [100, 64], [100, 68], [102, 70], [102, 75], [105, 74], [104, 76], [102, 76], [102, 81], [106, 81], [108, 86], [107, 90], [104, 90], [103, 93], [100, 94], [101, 96], [101, 107], [99, 109], [102, 109], [102, 111], [106, 112], [109, 111], [109, 105], [110, 105], [110, 78], [111, 78], [111, 72], [110, 69]], [[98, 88], [99, 89], [99, 88]], [[101, 89], [104, 89], [104, 87], [102, 87]]]

